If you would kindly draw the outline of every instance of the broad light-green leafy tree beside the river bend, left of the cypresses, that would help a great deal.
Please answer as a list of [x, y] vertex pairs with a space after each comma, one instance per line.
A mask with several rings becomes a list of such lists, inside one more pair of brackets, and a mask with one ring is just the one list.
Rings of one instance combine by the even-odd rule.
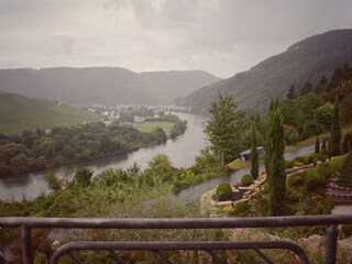
[[206, 122], [205, 133], [211, 151], [220, 156], [221, 165], [232, 161], [243, 150], [248, 118], [238, 109], [232, 96], [222, 96], [211, 103], [210, 119]]

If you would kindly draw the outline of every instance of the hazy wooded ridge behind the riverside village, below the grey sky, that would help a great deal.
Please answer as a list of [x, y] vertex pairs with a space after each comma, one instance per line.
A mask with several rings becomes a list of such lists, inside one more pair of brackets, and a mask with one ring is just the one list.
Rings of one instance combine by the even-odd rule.
[[76, 106], [164, 105], [219, 78], [204, 72], [133, 73], [117, 67], [0, 69], [0, 89]]

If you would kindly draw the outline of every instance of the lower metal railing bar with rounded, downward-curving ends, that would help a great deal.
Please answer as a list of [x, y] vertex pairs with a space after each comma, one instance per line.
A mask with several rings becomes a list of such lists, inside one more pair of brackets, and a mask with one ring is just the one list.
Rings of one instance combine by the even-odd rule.
[[62, 255], [72, 251], [210, 251], [210, 250], [260, 250], [283, 249], [294, 252], [301, 263], [309, 263], [305, 251], [287, 241], [244, 241], [244, 242], [72, 242], [58, 248], [50, 263], [55, 264]]

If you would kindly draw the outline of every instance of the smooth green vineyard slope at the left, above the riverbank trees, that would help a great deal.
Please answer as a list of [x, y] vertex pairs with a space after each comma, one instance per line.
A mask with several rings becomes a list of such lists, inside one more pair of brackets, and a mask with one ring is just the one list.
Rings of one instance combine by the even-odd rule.
[[100, 119], [100, 114], [57, 101], [0, 92], [0, 132], [2, 133], [69, 127]]

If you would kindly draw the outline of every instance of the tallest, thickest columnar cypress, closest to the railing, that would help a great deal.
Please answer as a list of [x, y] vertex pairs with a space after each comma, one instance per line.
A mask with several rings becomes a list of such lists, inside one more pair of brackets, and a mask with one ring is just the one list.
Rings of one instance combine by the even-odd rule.
[[272, 147], [270, 161], [270, 208], [272, 216], [279, 216], [284, 212], [286, 194], [286, 174], [285, 174], [285, 136], [280, 109], [277, 108], [272, 114], [271, 138]]

